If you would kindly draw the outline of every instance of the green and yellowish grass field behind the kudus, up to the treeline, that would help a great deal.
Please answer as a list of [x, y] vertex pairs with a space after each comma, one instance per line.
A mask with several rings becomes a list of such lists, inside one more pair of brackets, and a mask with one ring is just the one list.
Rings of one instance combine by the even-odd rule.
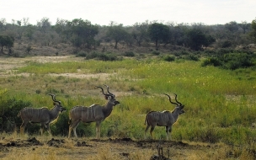
[[[234, 153], [225, 150], [229, 156], [213, 157], [216, 159], [255, 158], [255, 69], [223, 70], [202, 67], [200, 60], [163, 61], [157, 57], [120, 61], [73, 56], [52, 56], [49, 61], [40, 61], [39, 57], [25, 59], [19, 63], [22, 67], [3, 68], [0, 72], [1, 114], [7, 110], [17, 113], [25, 106], [51, 108], [47, 94], [55, 93], [67, 112], [51, 125], [51, 132], [67, 138], [68, 111], [75, 105], [105, 104], [94, 86], [107, 84], [120, 104], [102, 123], [101, 136], [141, 141], [145, 115], [151, 110], [173, 110], [163, 93], [177, 93], [185, 105], [185, 114], [173, 126], [172, 141], [222, 143], [233, 148]], [[3, 64], [12, 65], [12, 58], [3, 58]], [[21, 120], [13, 115], [5, 121], [2, 116], [1, 120], [5, 136], [17, 132], [15, 137], [19, 138]], [[28, 125], [26, 131], [28, 136], [39, 136], [39, 129], [40, 125]], [[164, 127], [156, 127], [153, 134], [155, 139], [165, 140]], [[95, 124], [78, 125], [77, 135], [95, 137]], [[150, 138], [149, 134], [146, 138]], [[50, 156], [57, 159], [56, 153]]]

